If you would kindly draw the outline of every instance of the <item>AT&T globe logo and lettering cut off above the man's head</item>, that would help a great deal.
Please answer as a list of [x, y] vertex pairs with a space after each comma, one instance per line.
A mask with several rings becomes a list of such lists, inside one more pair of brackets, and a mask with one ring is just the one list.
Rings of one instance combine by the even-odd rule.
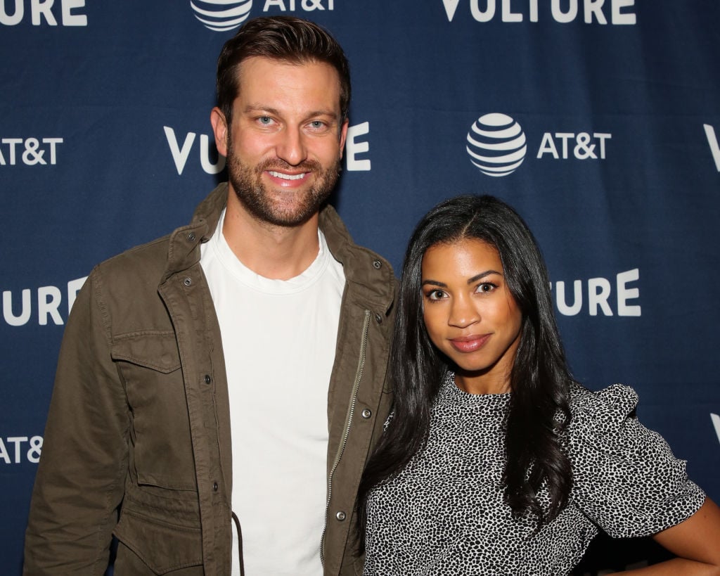
[[[195, 17], [215, 32], [237, 28], [250, 17], [253, 0], [190, 0]], [[265, 0], [263, 12], [276, 8], [279, 12], [314, 12], [334, 10], [335, 0]]]

